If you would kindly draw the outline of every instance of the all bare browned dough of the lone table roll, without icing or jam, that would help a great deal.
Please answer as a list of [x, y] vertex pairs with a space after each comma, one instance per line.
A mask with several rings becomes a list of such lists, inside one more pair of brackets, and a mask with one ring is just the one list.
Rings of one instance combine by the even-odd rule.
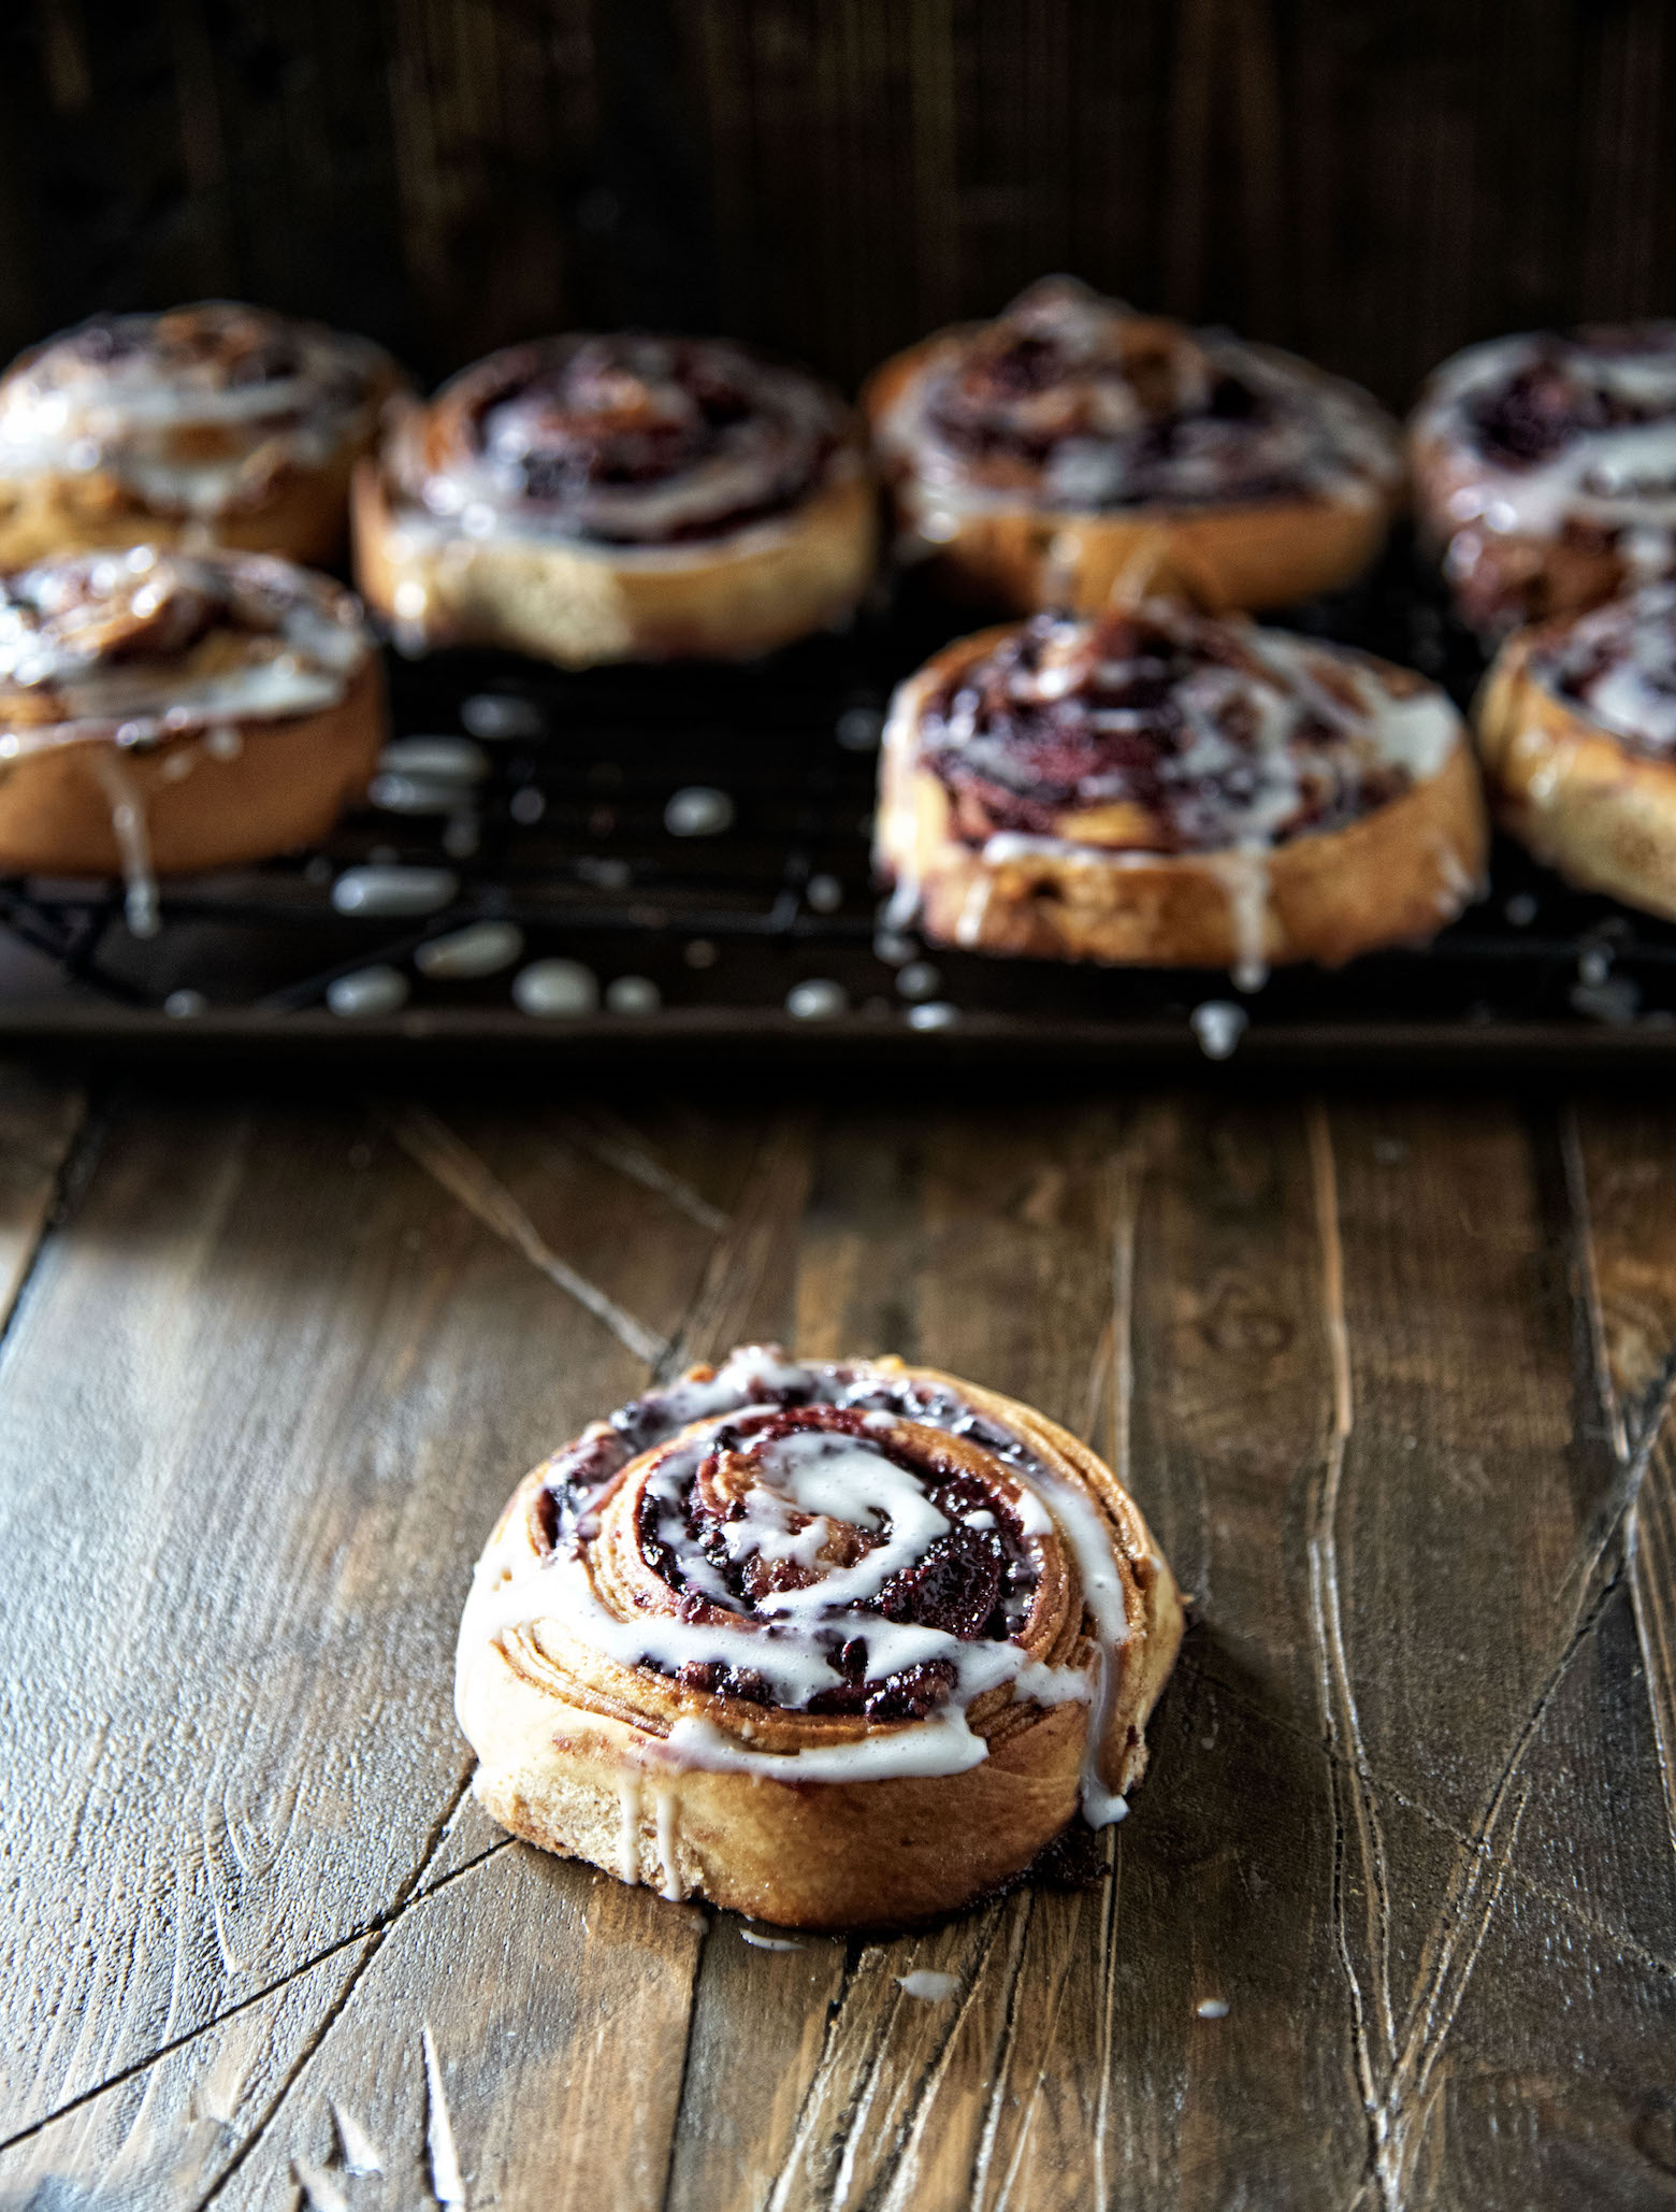
[[[1010, 1398], [895, 1358], [856, 1367], [876, 1371], [887, 1387], [953, 1394], [1094, 1506], [1128, 1628], [1114, 1652], [1097, 1763], [1103, 1785], [1128, 1787], [1145, 1765], [1145, 1721], [1183, 1628], [1170, 1568], [1134, 1502], [1086, 1444]], [[712, 1374], [699, 1367], [690, 1378]], [[586, 1449], [595, 1433], [573, 1449]], [[931, 1444], [924, 1429], [902, 1433], [913, 1438], [911, 1449], [935, 1449], [949, 1464], [975, 1453], [968, 1440], [946, 1433]], [[641, 1606], [652, 1608], [652, 1619], [659, 1608], [677, 1608], [632, 1540], [637, 1471], [654, 1455], [641, 1453], [601, 1489], [599, 1528], [586, 1546], [593, 1588], [628, 1621]], [[551, 1551], [542, 1520], [548, 1475], [548, 1467], [535, 1469], [513, 1493], [484, 1551], [480, 1595], [460, 1637], [458, 1708], [480, 1756], [475, 1790], [515, 1834], [666, 1896], [701, 1893], [783, 1927], [849, 1929], [907, 1924], [968, 1905], [1028, 1867], [1075, 1816], [1090, 1705], [1035, 1703], [1008, 1686], [971, 1703], [968, 1725], [986, 1756], [960, 1772], [778, 1781], [703, 1765], [685, 1752], [672, 1756], [672, 1725], [692, 1719], [765, 1761], [902, 1736], [920, 1723], [705, 1694], [648, 1663], [601, 1657], [566, 1635], [564, 1621], [491, 1632], [473, 1619], [478, 1604], [493, 1601], [504, 1577], [528, 1573]], [[1006, 1471], [999, 1480], [1006, 1484]], [[1041, 1555], [1044, 1590], [1019, 1639], [1033, 1659], [1075, 1668], [1088, 1661], [1094, 1632], [1077, 1559], [1059, 1531], [1044, 1537]], [[750, 1635], [743, 1641], [750, 1648]]]

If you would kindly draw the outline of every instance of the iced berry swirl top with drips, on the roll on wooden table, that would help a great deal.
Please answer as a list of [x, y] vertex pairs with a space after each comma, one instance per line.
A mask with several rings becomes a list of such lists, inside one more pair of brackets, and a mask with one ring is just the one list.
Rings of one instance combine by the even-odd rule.
[[[491, 1551], [480, 1568], [462, 1683], [482, 1644], [540, 1628], [544, 1652], [562, 1659], [570, 1641], [734, 1712], [907, 1723], [776, 1752], [750, 1743], [756, 1723], [679, 1712], [643, 1754], [663, 1765], [652, 1790], [666, 1896], [683, 1893], [670, 1778], [683, 1767], [781, 1781], [953, 1774], [988, 1756], [968, 1710], [999, 1690], [1090, 1705], [1086, 1812], [1121, 1816], [1101, 1776], [1128, 1637], [1112, 1528], [1022, 1438], [946, 1389], [747, 1347], [586, 1431], [551, 1464], [535, 1524], [537, 1566], [511, 1575]], [[1055, 1544], [1081, 1586], [1070, 1663], [1028, 1648]], [[639, 1787], [621, 1783], [619, 1858], [628, 1867], [632, 1832], [635, 1869]]]

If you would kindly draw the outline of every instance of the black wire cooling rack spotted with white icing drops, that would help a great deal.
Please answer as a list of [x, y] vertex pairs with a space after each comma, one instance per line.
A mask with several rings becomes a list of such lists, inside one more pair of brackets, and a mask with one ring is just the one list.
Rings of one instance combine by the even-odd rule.
[[[1435, 675], [1481, 659], [1408, 546], [1293, 626]], [[1572, 1062], [1676, 1051], [1676, 929], [1515, 847], [1420, 951], [1225, 973], [926, 949], [880, 925], [873, 770], [891, 686], [960, 628], [911, 584], [847, 637], [747, 668], [564, 675], [391, 655], [371, 803], [316, 852], [170, 880], [0, 880], [0, 1042], [347, 1055], [761, 1048], [834, 1068], [1008, 1053], [1117, 1064]]]

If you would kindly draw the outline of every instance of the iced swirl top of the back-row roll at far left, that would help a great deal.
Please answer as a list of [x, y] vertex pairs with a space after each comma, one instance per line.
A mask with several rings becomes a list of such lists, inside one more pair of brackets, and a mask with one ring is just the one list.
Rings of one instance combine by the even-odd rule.
[[95, 316], [0, 380], [0, 480], [97, 471], [157, 513], [208, 520], [369, 436], [391, 383], [365, 338], [265, 307]]

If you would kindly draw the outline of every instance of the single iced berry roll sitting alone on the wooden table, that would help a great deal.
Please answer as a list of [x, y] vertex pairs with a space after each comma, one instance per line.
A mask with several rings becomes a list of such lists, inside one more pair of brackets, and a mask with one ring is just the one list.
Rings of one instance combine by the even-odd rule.
[[1041, 1413], [745, 1347], [537, 1467], [455, 1701], [515, 1834], [785, 1927], [926, 1920], [1121, 1818], [1181, 1599]]

